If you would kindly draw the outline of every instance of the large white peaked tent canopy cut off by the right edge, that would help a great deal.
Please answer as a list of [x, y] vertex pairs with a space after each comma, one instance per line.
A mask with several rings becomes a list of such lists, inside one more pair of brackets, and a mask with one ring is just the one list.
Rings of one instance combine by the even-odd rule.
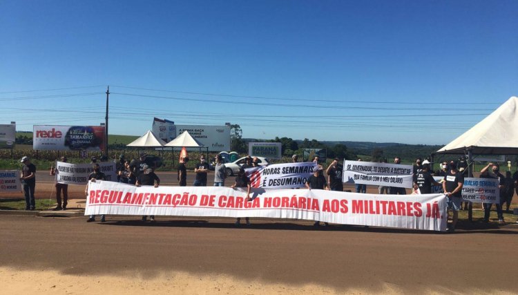
[[435, 153], [467, 152], [476, 155], [518, 154], [518, 97], [510, 97], [477, 125]]

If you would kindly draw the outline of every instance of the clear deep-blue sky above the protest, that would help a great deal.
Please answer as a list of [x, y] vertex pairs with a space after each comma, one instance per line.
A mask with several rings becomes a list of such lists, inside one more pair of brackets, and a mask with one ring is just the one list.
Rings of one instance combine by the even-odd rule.
[[0, 124], [447, 144], [518, 95], [518, 1], [1, 1]]

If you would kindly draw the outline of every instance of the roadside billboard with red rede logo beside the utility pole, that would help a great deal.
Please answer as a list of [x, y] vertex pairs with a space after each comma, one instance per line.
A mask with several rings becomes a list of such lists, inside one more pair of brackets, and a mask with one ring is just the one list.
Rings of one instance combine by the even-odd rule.
[[35, 125], [32, 149], [58, 151], [102, 151], [104, 126]]

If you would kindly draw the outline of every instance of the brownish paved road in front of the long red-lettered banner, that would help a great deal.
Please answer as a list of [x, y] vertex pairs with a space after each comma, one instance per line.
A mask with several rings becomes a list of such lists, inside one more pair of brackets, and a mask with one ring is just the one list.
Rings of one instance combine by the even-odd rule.
[[[138, 218], [135, 218], [138, 219]], [[242, 280], [381, 292], [517, 292], [518, 230], [434, 234], [363, 227], [314, 230], [310, 222], [161, 217], [154, 224], [111, 216], [0, 215], [0, 266], [61, 274], [166, 271], [228, 274]], [[489, 257], [488, 259], [484, 257]]]

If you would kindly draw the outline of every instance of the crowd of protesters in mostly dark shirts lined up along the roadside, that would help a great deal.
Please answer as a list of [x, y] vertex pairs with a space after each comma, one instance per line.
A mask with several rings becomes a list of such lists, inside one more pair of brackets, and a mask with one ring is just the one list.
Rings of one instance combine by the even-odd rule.
[[[61, 162], [67, 162], [66, 157], [61, 157]], [[106, 158], [100, 159], [106, 161]], [[298, 155], [291, 157], [292, 162], [298, 162]], [[307, 189], [325, 189], [332, 191], [343, 191], [343, 165], [341, 160], [335, 158], [327, 166], [325, 173], [327, 178], [323, 175], [323, 166], [319, 163], [318, 156], [313, 158], [313, 162], [317, 164], [314, 173], [308, 178], [305, 186]], [[186, 186], [187, 169], [186, 164], [189, 158], [183, 157], [180, 159], [178, 165], [178, 185], [180, 187]], [[358, 159], [361, 161], [361, 159]], [[23, 168], [20, 175], [20, 180], [23, 187], [23, 193], [26, 200], [26, 210], [35, 210], [35, 183], [36, 183], [36, 166], [30, 162], [28, 157], [21, 159]], [[383, 160], [382, 162], [387, 162]], [[97, 158], [92, 157], [91, 163], [93, 165], [93, 172], [88, 175], [88, 180], [95, 182], [96, 180], [105, 180], [106, 175], [100, 171]], [[401, 164], [401, 158], [394, 158], [394, 164]], [[463, 204], [462, 202], [462, 188], [464, 178], [468, 171], [468, 162], [466, 158], [461, 157], [459, 160], [443, 161], [439, 164], [437, 171], [431, 171], [429, 160], [422, 160], [417, 158], [413, 164], [413, 189], [419, 191], [419, 193], [432, 193], [432, 186], [441, 186], [443, 192], [448, 197], [447, 205], [448, 211], [452, 212], [452, 222], [448, 225], [449, 231], [454, 231], [457, 225], [458, 213], [460, 210], [468, 209], [468, 202]], [[242, 187], [247, 189], [247, 199], [250, 200], [251, 181], [249, 177], [244, 173], [244, 169], [258, 166], [258, 158], [252, 158], [247, 156], [246, 161], [242, 164], [238, 175], [231, 184], [232, 188]], [[124, 155], [119, 156], [119, 160], [116, 163], [117, 169], [117, 182], [126, 184], [133, 184], [137, 187], [142, 185], [158, 187], [160, 185], [160, 178], [155, 174], [155, 163], [147, 159], [146, 153], [140, 153], [138, 160], [126, 160]], [[200, 156], [200, 162], [195, 164], [195, 180], [193, 186], [195, 187], [206, 187], [207, 186], [207, 174], [209, 172], [209, 164], [205, 159], [204, 155]], [[225, 181], [227, 180], [226, 167], [223, 163], [222, 155], [215, 157], [214, 165], [214, 180], [213, 185], [215, 187], [224, 187]], [[54, 173], [52, 167], [51, 173]], [[506, 211], [510, 210], [510, 203], [514, 196], [515, 190], [518, 193], [518, 171], [511, 175], [510, 171], [506, 171], [504, 176], [500, 172], [499, 164], [488, 163], [480, 171], [480, 178], [492, 178], [498, 180], [498, 188], [500, 193], [500, 202], [495, 204], [497, 217], [499, 222], [503, 220], [503, 205], [506, 204]], [[434, 176], [440, 177], [441, 181], [434, 179]], [[62, 184], [56, 182], [56, 200], [57, 207], [54, 210], [66, 210], [68, 204], [68, 184]], [[355, 184], [356, 193], [366, 193], [365, 184]], [[85, 193], [88, 191], [88, 184], [85, 189]], [[403, 187], [378, 187], [378, 193], [392, 194], [392, 195], [405, 195], [406, 189]], [[61, 198], [62, 196], [62, 198]], [[484, 222], [489, 222], [490, 211], [492, 203], [483, 203], [484, 210]], [[151, 222], [155, 221], [155, 216], [150, 216]], [[249, 218], [245, 218], [246, 224], [250, 225]], [[95, 216], [90, 216], [88, 222], [95, 221]], [[101, 216], [101, 222], [106, 221], [106, 216]], [[142, 221], [147, 221], [147, 216], [142, 216]], [[236, 226], [240, 225], [241, 218], [237, 218]], [[320, 222], [315, 222], [315, 226], [319, 226]], [[327, 223], [325, 223], [327, 225]]]

